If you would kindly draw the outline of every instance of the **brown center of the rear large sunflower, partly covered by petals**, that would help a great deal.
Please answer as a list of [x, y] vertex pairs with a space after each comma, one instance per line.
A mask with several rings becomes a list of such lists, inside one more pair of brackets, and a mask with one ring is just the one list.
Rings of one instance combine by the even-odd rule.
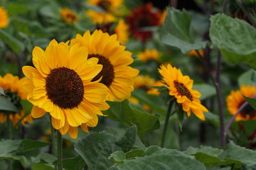
[[88, 55], [88, 59], [92, 57], [98, 58], [99, 59], [98, 64], [102, 64], [103, 66], [100, 73], [97, 74], [97, 76], [95, 76], [95, 78], [93, 78], [92, 81], [96, 81], [102, 76], [100, 83], [103, 83], [104, 85], [109, 87], [115, 78], [113, 65], [110, 63], [110, 61], [106, 57], [103, 57], [102, 55], [99, 55], [99, 54]]

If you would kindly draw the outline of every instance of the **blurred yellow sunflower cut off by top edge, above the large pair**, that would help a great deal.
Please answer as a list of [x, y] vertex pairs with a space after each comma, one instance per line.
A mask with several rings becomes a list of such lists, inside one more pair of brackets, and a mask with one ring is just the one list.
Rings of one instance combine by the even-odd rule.
[[94, 24], [104, 24], [116, 20], [115, 15], [120, 13], [118, 10], [122, 7], [123, 0], [89, 0], [88, 3], [104, 11], [87, 10], [86, 15], [92, 18]]

